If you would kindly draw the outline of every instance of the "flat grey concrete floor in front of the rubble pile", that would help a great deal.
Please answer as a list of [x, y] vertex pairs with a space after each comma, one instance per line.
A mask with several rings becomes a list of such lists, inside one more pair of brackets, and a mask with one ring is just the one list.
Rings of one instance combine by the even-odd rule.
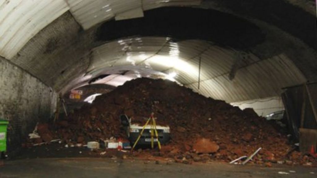
[[[278, 174], [279, 171], [288, 175]], [[294, 173], [290, 171], [295, 171]], [[314, 172], [314, 174], [312, 173]], [[252, 177], [252, 178], [312, 178], [316, 177], [316, 168], [303, 166], [291, 167], [273, 165], [272, 168], [262, 166], [241, 166], [226, 163], [181, 164], [166, 163], [145, 164], [141, 160], [112, 160], [105, 158], [49, 158], [23, 159], [7, 161], [0, 167], [0, 177]]]

